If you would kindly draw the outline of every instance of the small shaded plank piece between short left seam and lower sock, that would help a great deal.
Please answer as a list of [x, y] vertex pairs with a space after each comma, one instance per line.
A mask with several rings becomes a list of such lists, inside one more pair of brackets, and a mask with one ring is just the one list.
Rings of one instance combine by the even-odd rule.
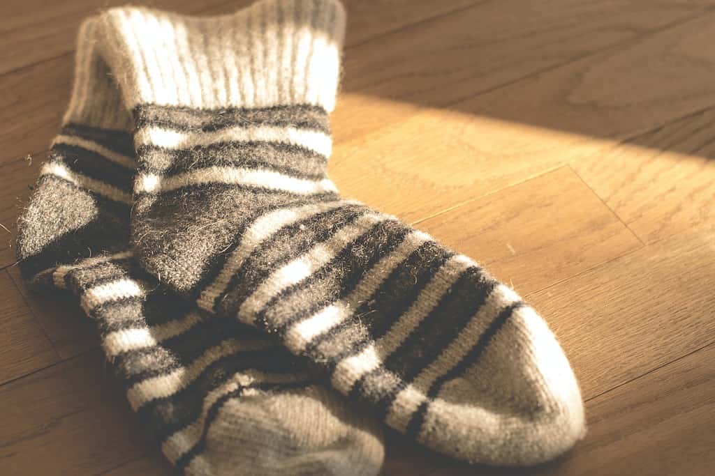
[[11, 266], [6, 271], [61, 359], [99, 347], [94, 323], [79, 308], [74, 295], [29, 290], [22, 281], [19, 268]]

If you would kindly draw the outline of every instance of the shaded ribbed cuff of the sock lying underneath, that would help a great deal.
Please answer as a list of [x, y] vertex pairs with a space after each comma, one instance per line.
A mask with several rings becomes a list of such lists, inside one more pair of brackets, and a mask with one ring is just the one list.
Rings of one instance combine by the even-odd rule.
[[97, 49], [98, 20], [96, 16], [89, 18], [79, 27], [74, 85], [62, 123], [129, 131], [132, 116], [124, 108], [119, 87]]

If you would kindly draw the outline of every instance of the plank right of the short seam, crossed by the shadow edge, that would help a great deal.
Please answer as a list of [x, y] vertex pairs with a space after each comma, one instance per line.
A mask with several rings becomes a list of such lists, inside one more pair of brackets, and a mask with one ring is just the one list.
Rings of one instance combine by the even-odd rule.
[[714, 122], [715, 108], [689, 115], [573, 168], [641, 240], [715, 226]]

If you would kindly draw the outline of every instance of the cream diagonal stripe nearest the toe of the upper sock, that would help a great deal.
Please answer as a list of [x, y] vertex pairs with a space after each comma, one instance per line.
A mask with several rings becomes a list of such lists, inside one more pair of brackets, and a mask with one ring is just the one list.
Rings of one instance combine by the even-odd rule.
[[498, 285], [462, 332], [440, 353], [438, 358], [423, 369], [410, 385], [395, 396], [385, 420], [388, 425], [396, 430], [405, 431], [413, 413], [427, 400], [425, 394], [435, 380], [460, 363], [491, 324], [491, 320], [501, 310], [508, 305], [517, 303], [519, 300], [521, 298], [513, 290], [503, 284]]

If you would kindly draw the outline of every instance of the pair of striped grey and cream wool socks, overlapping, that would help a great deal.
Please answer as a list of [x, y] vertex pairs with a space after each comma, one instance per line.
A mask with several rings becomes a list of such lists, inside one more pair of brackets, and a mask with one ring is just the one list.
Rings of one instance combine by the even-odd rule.
[[[380, 430], [348, 400], [470, 462], [536, 464], [583, 435], [578, 385], [536, 312], [327, 178], [337, 1], [211, 19], [126, 7], [88, 25], [90, 59], [78, 54], [65, 130], [21, 219], [21, 265], [79, 295], [177, 467], [374, 473]], [[131, 136], [107, 110], [132, 111]], [[82, 260], [87, 247], [102, 255]]]

